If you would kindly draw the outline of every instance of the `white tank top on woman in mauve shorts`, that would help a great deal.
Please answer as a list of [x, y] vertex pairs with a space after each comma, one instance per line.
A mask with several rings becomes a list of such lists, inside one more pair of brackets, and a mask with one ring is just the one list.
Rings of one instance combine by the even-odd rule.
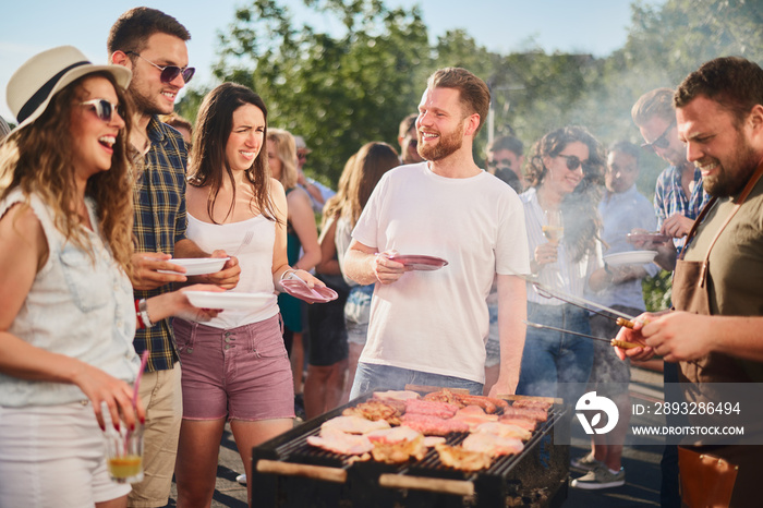
[[225, 311], [216, 318], [205, 323], [215, 328], [237, 328], [258, 323], [278, 314], [278, 298], [272, 285], [272, 249], [276, 243], [276, 222], [263, 215], [241, 222], [214, 225], [203, 222], [191, 214], [189, 216], [187, 238], [196, 242], [202, 250], [213, 252], [225, 250], [229, 254], [237, 252], [247, 231], [253, 231], [252, 241], [244, 245], [235, 256], [241, 266], [241, 279], [231, 291], [245, 293], [269, 293], [272, 295], [262, 306], [245, 311]]

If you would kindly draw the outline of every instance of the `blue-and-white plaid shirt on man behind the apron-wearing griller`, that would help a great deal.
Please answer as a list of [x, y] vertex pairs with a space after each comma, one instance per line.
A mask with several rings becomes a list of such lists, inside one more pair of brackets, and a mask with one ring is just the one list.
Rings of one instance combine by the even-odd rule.
[[[710, 195], [702, 188], [702, 172], [694, 168], [694, 188], [691, 196], [687, 197], [681, 186], [681, 170], [675, 166], [669, 166], [657, 177], [657, 185], [654, 190], [654, 211], [657, 215], [657, 230], [663, 227], [665, 219], [674, 214], [681, 214], [690, 219], [695, 219], [705, 204], [710, 201]], [[674, 238], [678, 254], [683, 250], [686, 238]]]

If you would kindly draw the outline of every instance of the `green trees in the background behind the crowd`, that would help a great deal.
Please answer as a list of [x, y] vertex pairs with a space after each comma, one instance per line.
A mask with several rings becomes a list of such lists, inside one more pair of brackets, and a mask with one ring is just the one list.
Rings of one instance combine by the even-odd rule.
[[[596, 59], [531, 49], [498, 55], [462, 29], [429, 43], [417, 7], [390, 9], [383, 0], [303, 0], [304, 10], [343, 29], [325, 33], [293, 21], [278, 0], [253, 0], [219, 35], [220, 81], [252, 87], [269, 109], [269, 124], [305, 137], [314, 152], [307, 173], [331, 186], [344, 161], [364, 143], [397, 149], [400, 120], [414, 112], [426, 77], [464, 66], [491, 86], [495, 134], [509, 132], [528, 149], [552, 129], [585, 125], [609, 145], [641, 143], [630, 108], [643, 93], [676, 87], [702, 62], [726, 55], [763, 61], [763, 2], [750, 0], [637, 0], [626, 45]], [[337, 33], [339, 32], [339, 33]], [[208, 90], [191, 89], [179, 106], [194, 119]], [[475, 143], [480, 161], [487, 141]], [[642, 158], [639, 190], [652, 197], [665, 162]], [[312, 170], [311, 170], [312, 168]], [[669, 274], [644, 282], [650, 310], [669, 305]]]

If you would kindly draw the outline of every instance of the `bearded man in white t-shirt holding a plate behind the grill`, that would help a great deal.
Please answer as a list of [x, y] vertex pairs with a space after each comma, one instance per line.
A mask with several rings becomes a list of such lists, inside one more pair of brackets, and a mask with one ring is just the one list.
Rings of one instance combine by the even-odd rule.
[[[530, 273], [530, 256], [519, 197], [472, 157], [489, 100], [485, 82], [464, 69], [429, 76], [416, 119], [425, 161], [388, 171], [355, 226], [346, 273], [378, 283], [352, 398], [407, 384], [482, 395], [486, 298], [496, 274], [501, 358], [491, 395], [514, 392], [526, 314], [518, 275]], [[448, 264], [417, 270], [396, 255]]]

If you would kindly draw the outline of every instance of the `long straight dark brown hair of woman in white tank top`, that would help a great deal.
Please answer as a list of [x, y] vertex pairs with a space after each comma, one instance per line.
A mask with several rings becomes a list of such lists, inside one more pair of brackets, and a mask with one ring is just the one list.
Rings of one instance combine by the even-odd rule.
[[250, 206], [253, 210], [257, 208], [268, 220], [276, 220], [275, 205], [270, 197], [270, 169], [267, 165], [267, 108], [262, 97], [250, 88], [235, 83], [223, 83], [204, 97], [193, 130], [190, 157], [193, 168], [189, 183], [195, 188], [209, 185], [207, 213], [213, 221], [217, 195], [226, 174], [233, 189], [233, 198], [226, 217], [233, 211], [235, 185], [233, 171], [226, 158], [226, 146], [233, 130], [233, 112], [247, 104], [258, 108], [265, 119], [263, 146], [252, 167], [245, 172], [246, 181], [252, 185], [253, 197]]

